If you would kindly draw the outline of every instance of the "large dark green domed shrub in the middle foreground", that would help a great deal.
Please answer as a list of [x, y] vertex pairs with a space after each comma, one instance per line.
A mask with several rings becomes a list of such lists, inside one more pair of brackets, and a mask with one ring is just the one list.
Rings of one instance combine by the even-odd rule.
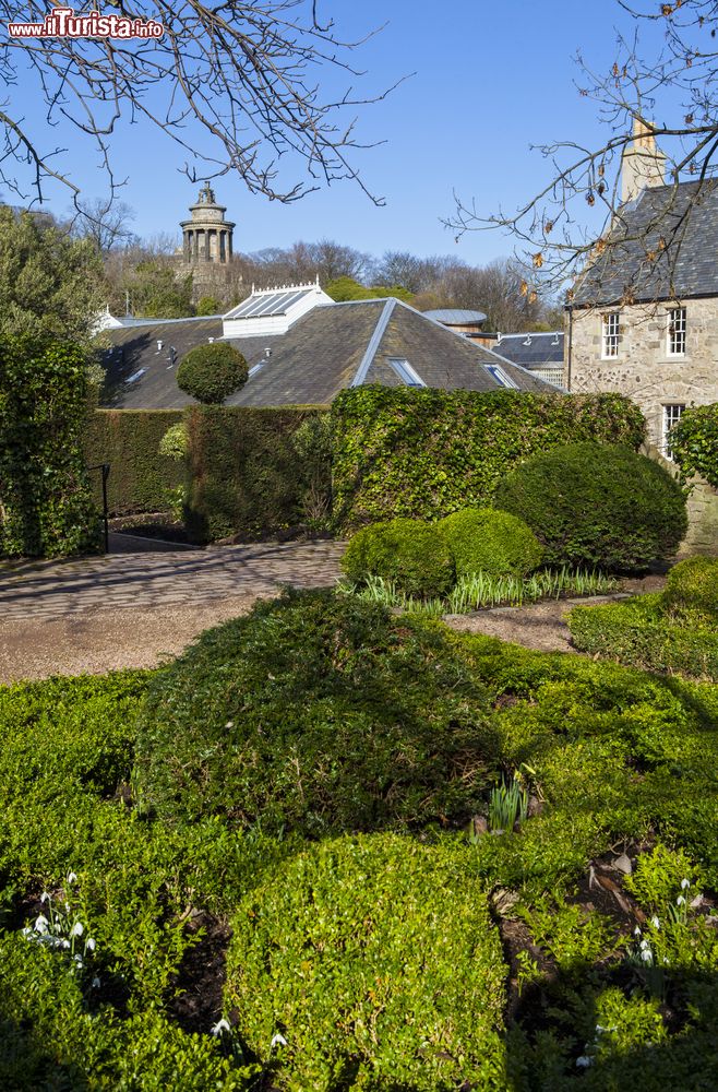
[[419, 827], [471, 815], [492, 739], [441, 628], [287, 593], [155, 676], [135, 780], [167, 818], [310, 835]]

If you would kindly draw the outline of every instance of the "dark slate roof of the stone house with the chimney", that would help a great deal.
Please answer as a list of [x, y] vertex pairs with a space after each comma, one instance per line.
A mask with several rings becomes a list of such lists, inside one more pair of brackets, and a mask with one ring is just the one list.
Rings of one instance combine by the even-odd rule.
[[577, 307], [718, 296], [718, 183], [644, 189], [577, 281]]

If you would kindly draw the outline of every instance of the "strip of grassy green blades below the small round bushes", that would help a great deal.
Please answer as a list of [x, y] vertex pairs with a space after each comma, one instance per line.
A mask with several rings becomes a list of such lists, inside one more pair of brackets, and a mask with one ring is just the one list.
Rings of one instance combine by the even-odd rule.
[[469, 614], [486, 607], [520, 607], [540, 600], [560, 600], [571, 595], [608, 595], [618, 592], [621, 582], [596, 569], [546, 569], [530, 577], [495, 577], [477, 572], [460, 577], [445, 598], [418, 598], [399, 591], [391, 580], [369, 577], [361, 586], [343, 582], [338, 591], [371, 603], [398, 607], [407, 614], [441, 618], [445, 614]]

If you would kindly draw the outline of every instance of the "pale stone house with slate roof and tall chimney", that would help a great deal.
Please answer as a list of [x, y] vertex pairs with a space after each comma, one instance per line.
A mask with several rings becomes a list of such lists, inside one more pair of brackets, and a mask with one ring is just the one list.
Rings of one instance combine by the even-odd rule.
[[[637, 124], [608, 245], [566, 307], [563, 385], [630, 395], [671, 465], [683, 411], [718, 402], [718, 181], [667, 185], [665, 163]], [[698, 490], [692, 509], [691, 545], [718, 549], [718, 496]]]

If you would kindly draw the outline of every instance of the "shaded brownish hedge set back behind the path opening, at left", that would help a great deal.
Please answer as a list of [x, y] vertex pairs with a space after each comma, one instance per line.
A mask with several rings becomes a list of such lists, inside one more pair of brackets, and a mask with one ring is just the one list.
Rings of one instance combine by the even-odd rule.
[[[88, 466], [109, 463], [107, 494], [111, 515], [161, 512], [167, 495], [182, 484], [181, 463], [159, 454], [159, 441], [182, 419], [181, 410], [97, 410], [85, 436]], [[99, 471], [92, 474], [95, 499], [101, 503]]]

